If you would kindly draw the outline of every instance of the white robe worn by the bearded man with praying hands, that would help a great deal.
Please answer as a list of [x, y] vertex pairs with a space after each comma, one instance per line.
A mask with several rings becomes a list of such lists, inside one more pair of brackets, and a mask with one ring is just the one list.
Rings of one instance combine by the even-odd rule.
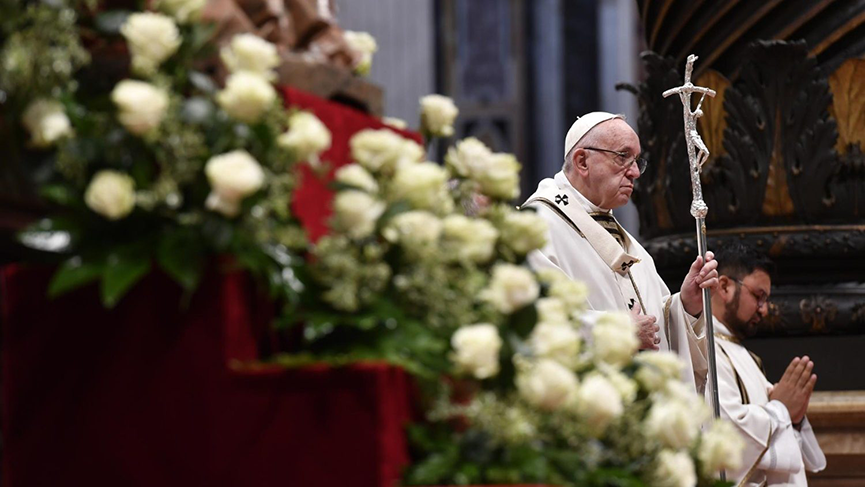
[[745, 486], [808, 485], [806, 470], [826, 468], [808, 418], [797, 431], [787, 407], [769, 400], [772, 384], [759, 359], [717, 318], [714, 325], [721, 417], [732, 421], [745, 440], [742, 468], [727, 472], [727, 478]]

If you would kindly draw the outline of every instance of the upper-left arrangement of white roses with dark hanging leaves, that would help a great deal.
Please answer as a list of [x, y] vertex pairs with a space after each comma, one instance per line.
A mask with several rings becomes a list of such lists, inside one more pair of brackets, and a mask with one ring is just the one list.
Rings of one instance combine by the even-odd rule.
[[[24, 129], [12, 139], [29, 138], [50, 169], [40, 191], [56, 205], [21, 240], [64, 256], [51, 295], [98, 281], [113, 306], [154, 263], [191, 293], [209, 256], [228, 254], [297, 301], [291, 277], [307, 242], [289, 201], [299, 162], [316, 162], [330, 133], [282, 108], [276, 47], [254, 35], [218, 53], [223, 87], [196, 69], [216, 57], [197, 21], [204, 3], [7, 7], [0, 89]], [[91, 59], [85, 42], [119, 50], [124, 67]]]

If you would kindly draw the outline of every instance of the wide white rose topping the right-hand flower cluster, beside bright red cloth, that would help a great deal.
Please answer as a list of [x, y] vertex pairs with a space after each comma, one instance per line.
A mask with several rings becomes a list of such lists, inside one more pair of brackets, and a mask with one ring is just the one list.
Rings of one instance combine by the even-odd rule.
[[425, 155], [417, 142], [387, 129], [361, 130], [349, 145], [352, 159], [373, 173], [391, 172], [403, 162], [418, 162]]

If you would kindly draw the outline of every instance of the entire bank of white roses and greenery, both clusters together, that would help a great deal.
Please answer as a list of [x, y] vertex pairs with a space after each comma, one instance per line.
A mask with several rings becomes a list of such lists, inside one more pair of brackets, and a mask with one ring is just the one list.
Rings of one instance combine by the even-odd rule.
[[[526, 267], [547, 229], [509, 203], [513, 155], [468, 138], [437, 164], [362, 131], [335, 174], [332, 231], [308, 242], [289, 203], [330, 133], [282, 107], [258, 37], [218, 52], [224, 83], [198, 69], [217, 57], [203, 4], [0, 4], [4, 116], [49, 169], [54, 211], [21, 240], [62, 257], [50, 294], [99, 282], [113, 306], [154, 265], [192, 293], [212, 256], [232, 256], [282, 305], [278, 324], [301, 328], [279, 363], [385, 360], [429, 392], [408, 484], [692, 486], [735, 466], [741, 440], [724, 423], [701, 434], [676, 357], [636, 354], [628, 315], [590, 315], [584, 285]], [[374, 39], [353, 36], [368, 71]], [[118, 45], [128, 69], [91, 59]], [[450, 99], [420, 105], [425, 136], [453, 135]]]

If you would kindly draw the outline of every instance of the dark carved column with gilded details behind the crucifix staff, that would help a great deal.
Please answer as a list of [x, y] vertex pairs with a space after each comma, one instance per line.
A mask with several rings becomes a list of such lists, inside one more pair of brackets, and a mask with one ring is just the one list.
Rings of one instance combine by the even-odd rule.
[[658, 96], [681, 83], [693, 52], [694, 83], [718, 92], [698, 121], [711, 153], [701, 174], [709, 248], [742, 241], [779, 264], [767, 334], [861, 333], [865, 4], [638, 4], [647, 76], [622, 88], [640, 104], [649, 166], [634, 201], [659, 272], [680, 275], [695, 251], [682, 107]]

